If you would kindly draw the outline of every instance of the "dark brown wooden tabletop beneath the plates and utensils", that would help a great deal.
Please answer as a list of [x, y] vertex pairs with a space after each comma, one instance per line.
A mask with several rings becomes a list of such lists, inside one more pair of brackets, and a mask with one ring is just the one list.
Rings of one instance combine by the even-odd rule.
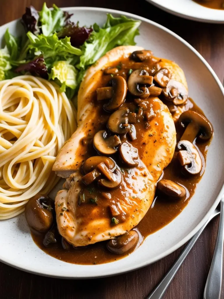
[[[144, 0], [46, 0], [46, 2], [47, 6], [55, 3], [59, 7], [107, 7], [151, 19], [188, 41], [202, 54], [223, 81], [224, 25], [181, 19], [159, 10]], [[40, 9], [43, 1], [0, 0], [0, 25], [21, 17], [25, 7], [30, 4]], [[186, 258], [164, 299], [203, 299], [217, 228], [218, 219], [214, 219]], [[60, 280], [41, 277], [0, 263], [0, 299], [143, 299], [162, 279], [177, 259], [181, 249], [143, 269], [95, 280]], [[221, 298], [224, 298], [223, 291]]]

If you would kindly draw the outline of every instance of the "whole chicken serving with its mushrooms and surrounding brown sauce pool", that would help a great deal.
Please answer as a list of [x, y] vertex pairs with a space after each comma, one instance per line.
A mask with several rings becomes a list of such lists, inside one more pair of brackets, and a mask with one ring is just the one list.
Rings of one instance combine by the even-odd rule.
[[[30, 213], [27, 205], [27, 215], [35, 216], [31, 228], [47, 231], [42, 242], [49, 254], [54, 246], [60, 251], [61, 238], [67, 253], [60, 259], [103, 263], [130, 253], [142, 235], [184, 208], [204, 171], [213, 128], [188, 97], [182, 69], [137, 46], [114, 48], [91, 66], [77, 104], [78, 128], [53, 166], [66, 179], [55, 198], [57, 230], [49, 230], [47, 198], [33, 199], [29, 206], [38, 209]], [[94, 243], [102, 246], [87, 246]]]

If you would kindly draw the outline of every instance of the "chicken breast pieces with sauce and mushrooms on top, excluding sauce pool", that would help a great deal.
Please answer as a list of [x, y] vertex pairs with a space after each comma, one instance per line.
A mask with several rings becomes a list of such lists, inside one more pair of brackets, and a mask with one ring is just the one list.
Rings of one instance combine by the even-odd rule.
[[[79, 126], [53, 167], [59, 176], [68, 177], [69, 190], [56, 196], [56, 219], [59, 233], [74, 246], [111, 239], [134, 228], [151, 206], [157, 180], [173, 157], [174, 121], [157, 96], [171, 81], [172, 86], [181, 85], [185, 102], [186, 80], [181, 70], [172, 75], [177, 65], [153, 57], [151, 51], [140, 58], [144, 62], [131, 56], [141, 50], [113, 49], [88, 70], [80, 86]], [[97, 153], [101, 160], [91, 158]], [[114, 165], [108, 167], [106, 157]], [[88, 159], [92, 165], [85, 171]], [[118, 174], [119, 184], [102, 184], [116, 181]]]

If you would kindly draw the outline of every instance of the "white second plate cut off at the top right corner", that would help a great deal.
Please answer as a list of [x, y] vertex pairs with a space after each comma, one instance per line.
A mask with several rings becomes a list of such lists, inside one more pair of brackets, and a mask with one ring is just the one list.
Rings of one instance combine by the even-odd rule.
[[206, 23], [224, 23], [224, 10], [204, 7], [192, 0], [146, 1], [182, 18]]

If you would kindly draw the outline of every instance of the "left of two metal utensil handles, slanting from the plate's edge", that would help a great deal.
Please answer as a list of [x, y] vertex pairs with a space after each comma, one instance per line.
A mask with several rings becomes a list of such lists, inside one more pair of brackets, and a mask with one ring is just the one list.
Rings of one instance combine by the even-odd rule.
[[218, 214], [219, 214], [219, 212], [217, 210], [216, 210], [216, 212], [214, 211], [214, 213], [211, 215], [211, 217], [208, 219], [208, 221], [205, 223], [205, 225], [203, 225], [202, 228], [188, 242], [188, 244], [183, 249], [183, 251], [179, 255], [179, 257], [176, 260], [176, 262], [174, 263], [174, 265], [167, 272], [167, 274], [161, 280], [161, 282], [158, 284], [158, 286], [145, 299], [161, 299], [162, 298], [162, 296], [164, 295], [166, 289], [168, 288], [168, 286], [170, 285], [170, 283], [173, 280], [174, 276], [176, 275], [177, 271], [179, 270], [180, 266], [182, 265], [183, 261], [187, 257], [188, 253], [191, 251], [191, 248], [194, 246], [195, 242], [200, 237], [200, 235], [201, 235], [202, 231], [204, 230], [205, 226], [208, 224], [208, 222], [211, 221], [212, 218], [214, 218]]

